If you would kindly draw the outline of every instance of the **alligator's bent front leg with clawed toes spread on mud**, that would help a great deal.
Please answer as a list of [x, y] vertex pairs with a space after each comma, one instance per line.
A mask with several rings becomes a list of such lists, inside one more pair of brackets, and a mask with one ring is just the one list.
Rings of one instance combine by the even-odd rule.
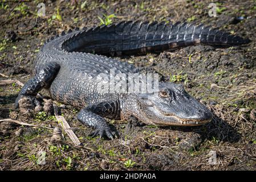
[[105, 135], [109, 139], [115, 138], [115, 133], [111, 131], [103, 117], [120, 119], [119, 102], [101, 102], [97, 105], [87, 106], [78, 113], [78, 120], [80, 122], [95, 129], [91, 134], [92, 137], [97, 135], [103, 137]]

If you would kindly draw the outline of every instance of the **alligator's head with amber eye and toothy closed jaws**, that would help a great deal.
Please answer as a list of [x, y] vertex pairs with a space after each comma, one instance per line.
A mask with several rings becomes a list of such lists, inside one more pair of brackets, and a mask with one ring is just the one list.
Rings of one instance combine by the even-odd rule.
[[143, 122], [157, 126], [198, 126], [212, 120], [212, 112], [190, 96], [182, 84], [160, 82], [159, 91], [137, 94], [136, 113]]

